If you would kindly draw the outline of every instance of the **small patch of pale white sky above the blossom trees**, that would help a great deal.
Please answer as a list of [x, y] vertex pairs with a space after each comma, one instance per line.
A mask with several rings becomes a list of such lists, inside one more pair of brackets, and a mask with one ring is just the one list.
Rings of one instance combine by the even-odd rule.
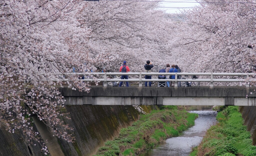
[[180, 13], [179, 9], [191, 9], [194, 6], [199, 5], [199, 3], [194, 3], [196, 2], [195, 0], [162, 0], [162, 1], [165, 1], [165, 2], [162, 2], [163, 4], [162, 9], [166, 10], [167, 13], [176, 13], [176, 12]]

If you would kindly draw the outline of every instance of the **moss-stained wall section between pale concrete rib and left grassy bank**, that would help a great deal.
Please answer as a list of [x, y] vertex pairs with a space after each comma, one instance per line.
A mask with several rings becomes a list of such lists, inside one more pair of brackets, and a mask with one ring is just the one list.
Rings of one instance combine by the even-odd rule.
[[[107, 140], [118, 136], [120, 129], [131, 126], [136, 121], [139, 113], [132, 106], [92, 106], [72, 105], [65, 106], [71, 120], [66, 120], [73, 130], [76, 138], [74, 144], [60, 140], [65, 155], [68, 150], [76, 151], [75, 155], [93, 155]], [[149, 113], [156, 106], [142, 106]]]

